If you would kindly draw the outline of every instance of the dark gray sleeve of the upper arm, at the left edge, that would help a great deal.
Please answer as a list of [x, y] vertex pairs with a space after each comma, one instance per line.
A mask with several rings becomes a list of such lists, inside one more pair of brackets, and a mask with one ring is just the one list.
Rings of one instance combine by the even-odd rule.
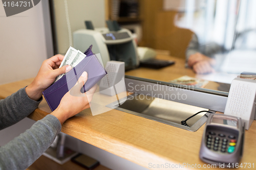
[[0, 130], [16, 124], [32, 113], [42, 101], [34, 101], [29, 98], [26, 87], [0, 100]]

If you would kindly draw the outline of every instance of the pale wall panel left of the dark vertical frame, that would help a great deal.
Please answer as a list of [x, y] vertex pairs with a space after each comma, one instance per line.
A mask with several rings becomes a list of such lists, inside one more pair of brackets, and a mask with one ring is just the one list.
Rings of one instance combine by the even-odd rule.
[[6, 17], [0, 5], [0, 84], [35, 77], [47, 59], [42, 3]]

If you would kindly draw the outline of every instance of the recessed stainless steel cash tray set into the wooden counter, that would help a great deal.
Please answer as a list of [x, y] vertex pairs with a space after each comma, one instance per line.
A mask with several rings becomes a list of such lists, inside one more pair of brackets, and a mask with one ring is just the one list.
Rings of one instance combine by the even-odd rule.
[[[120, 105], [122, 103], [122, 105]], [[189, 120], [187, 124], [190, 127], [181, 125], [181, 121], [189, 116], [209, 109], [186, 105], [178, 102], [168, 101], [159, 98], [152, 98], [143, 94], [132, 94], [125, 98], [113, 102], [106, 107], [131, 113], [137, 116], [156, 120], [167, 125], [172, 125], [188, 131], [197, 131], [205, 122], [210, 113], [200, 113]], [[211, 111], [215, 113], [215, 111]]]

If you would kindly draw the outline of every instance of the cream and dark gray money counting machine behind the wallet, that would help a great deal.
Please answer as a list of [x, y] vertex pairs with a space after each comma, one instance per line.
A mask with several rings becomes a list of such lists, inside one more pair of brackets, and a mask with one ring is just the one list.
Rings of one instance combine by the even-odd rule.
[[127, 29], [113, 29], [111, 21], [107, 21], [109, 28], [93, 27], [77, 30], [73, 33], [74, 48], [85, 51], [93, 45], [93, 52], [100, 53], [103, 65], [110, 60], [125, 62], [125, 70], [134, 69], [139, 65], [136, 42], [131, 31]]

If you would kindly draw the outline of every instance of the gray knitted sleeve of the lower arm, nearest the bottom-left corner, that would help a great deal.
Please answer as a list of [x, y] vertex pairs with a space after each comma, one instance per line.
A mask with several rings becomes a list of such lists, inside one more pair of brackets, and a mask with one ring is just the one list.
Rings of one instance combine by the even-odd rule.
[[26, 169], [51, 145], [61, 131], [59, 120], [49, 114], [29, 130], [0, 148], [0, 169]]

